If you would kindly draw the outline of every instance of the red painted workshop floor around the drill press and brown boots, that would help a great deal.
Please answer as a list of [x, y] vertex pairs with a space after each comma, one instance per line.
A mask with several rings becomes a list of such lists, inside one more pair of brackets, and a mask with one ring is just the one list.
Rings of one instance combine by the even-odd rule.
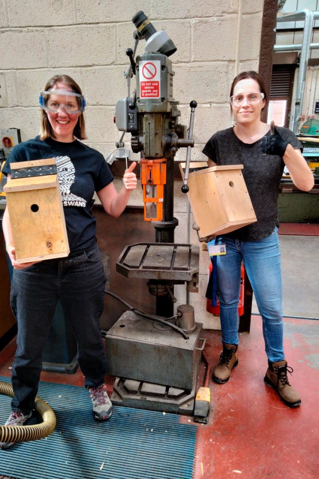
[[[210, 380], [212, 407], [207, 425], [198, 424], [194, 479], [317, 479], [319, 470], [319, 321], [285, 319], [285, 352], [294, 368], [291, 384], [302, 405], [290, 409], [263, 381], [267, 360], [261, 319], [240, 334], [239, 364], [228, 383]], [[212, 365], [220, 353], [220, 332], [205, 330]], [[0, 353], [0, 375], [10, 376], [14, 341]], [[200, 369], [199, 386], [204, 368]], [[42, 381], [83, 385], [83, 376], [43, 372]], [[112, 378], [107, 378], [109, 392]], [[184, 423], [193, 422], [183, 416]], [[23, 479], [23, 478], [19, 478]], [[141, 478], [142, 479], [142, 478]], [[143, 478], [147, 479], [147, 478]], [[175, 478], [172, 478], [175, 479]]]

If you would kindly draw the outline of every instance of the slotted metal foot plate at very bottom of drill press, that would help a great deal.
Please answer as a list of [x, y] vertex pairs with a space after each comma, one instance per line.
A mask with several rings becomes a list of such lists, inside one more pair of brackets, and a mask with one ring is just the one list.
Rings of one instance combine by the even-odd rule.
[[116, 378], [111, 401], [115, 406], [193, 416], [195, 395], [196, 384], [192, 391], [187, 391], [133, 379]]

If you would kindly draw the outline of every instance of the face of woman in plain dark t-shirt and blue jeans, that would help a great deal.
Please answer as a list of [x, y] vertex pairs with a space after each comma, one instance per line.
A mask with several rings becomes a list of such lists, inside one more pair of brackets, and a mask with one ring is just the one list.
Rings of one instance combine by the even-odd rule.
[[261, 99], [257, 103], [248, 103], [247, 95], [250, 93], [261, 93], [258, 82], [253, 78], [244, 78], [234, 86], [232, 94], [242, 95], [244, 98], [240, 105], [231, 105], [232, 114], [237, 123], [249, 124], [260, 120], [261, 110], [266, 101]]

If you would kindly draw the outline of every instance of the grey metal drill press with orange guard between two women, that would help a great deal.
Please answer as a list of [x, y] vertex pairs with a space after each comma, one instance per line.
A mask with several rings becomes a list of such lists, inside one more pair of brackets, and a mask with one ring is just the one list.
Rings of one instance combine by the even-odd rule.
[[[192, 415], [196, 378], [205, 340], [194, 308], [180, 305], [174, 315], [174, 284], [187, 283], [198, 291], [199, 246], [174, 242], [174, 157], [187, 148], [187, 164], [194, 146], [194, 111], [187, 131], [179, 123], [178, 102], [173, 98], [172, 62], [176, 47], [164, 31], [156, 31], [143, 11], [132, 18], [136, 27], [134, 48], [126, 54], [127, 80], [136, 75], [133, 95], [115, 107], [115, 124], [123, 132], [116, 146], [123, 148], [125, 132], [131, 149], [140, 153], [144, 219], [155, 227], [154, 243], [125, 246], [116, 270], [132, 278], [147, 278], [156, 296], [156, 315], [124, 312], [106, 334], [108, 374], [116, 376], [113, 404]], [[146, 40], [145, 52], [134, 59], [137, 44]], [[128, 81], [129, 85], [129, 81]], [[184, 184], [187, 190], [187, 184]]]

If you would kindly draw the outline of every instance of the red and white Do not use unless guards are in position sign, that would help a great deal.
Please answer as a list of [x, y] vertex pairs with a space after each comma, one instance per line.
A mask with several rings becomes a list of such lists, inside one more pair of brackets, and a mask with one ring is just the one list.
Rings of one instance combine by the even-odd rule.
[[139, 89], [141, 98], [160, 98], [161, 90], [161, 62], [139, 62]]

